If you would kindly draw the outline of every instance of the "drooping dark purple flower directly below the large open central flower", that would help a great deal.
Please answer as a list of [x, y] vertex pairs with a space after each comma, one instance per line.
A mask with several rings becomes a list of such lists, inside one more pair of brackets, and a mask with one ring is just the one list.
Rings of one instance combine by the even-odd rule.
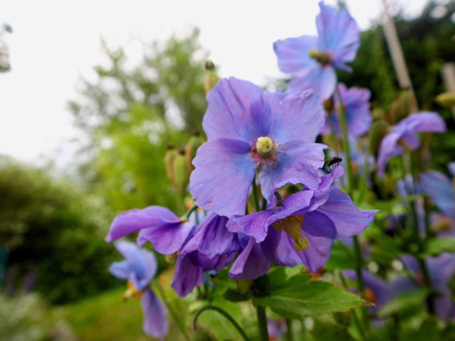
[[227, 218], [209, 213], [180, 251], [171, 287], [186, 296], [203, 281], [205, 271], [219, 271], [240, 251], [237, 233], [227, 231]]

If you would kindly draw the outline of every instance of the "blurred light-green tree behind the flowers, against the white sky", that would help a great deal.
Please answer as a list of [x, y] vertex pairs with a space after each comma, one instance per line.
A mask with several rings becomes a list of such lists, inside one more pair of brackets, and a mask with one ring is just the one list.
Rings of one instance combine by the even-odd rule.
[[144, 45], [133, 70], [127, 70], [121, 48], [110, 50], [102, 41], [110, 66], [96, 66], [98, 80], [83, 79], [81, 98], [69, 103], [90, 141], [81, 173], [115, 212], [149, 205], [176, 209], [163, 157], [167, 143], [183, 147], [202, 128], [206, 54], [198, 35], [194, 29], [182, 39]]

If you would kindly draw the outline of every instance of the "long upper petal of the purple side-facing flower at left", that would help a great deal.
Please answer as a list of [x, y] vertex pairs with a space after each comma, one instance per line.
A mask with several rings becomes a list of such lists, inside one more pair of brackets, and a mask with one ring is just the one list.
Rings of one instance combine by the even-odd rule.
[[148, 206], [142, 210], [135, 208], [115, 216], [105, 241], [115, 241], [147, 227], [158, 227], [178, 222], [180, 222], [180, 218], [166, 207]]

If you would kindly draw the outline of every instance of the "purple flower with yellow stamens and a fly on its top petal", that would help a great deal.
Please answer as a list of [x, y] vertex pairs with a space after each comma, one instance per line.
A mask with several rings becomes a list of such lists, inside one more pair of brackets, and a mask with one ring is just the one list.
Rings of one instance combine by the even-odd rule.
[[231, 278], [263, 276], [272, 262], [303, 264], [314, 273], [329, 260], [334, 239], [364, 231], [377, 210], [359, 211], [346, 193], [330, 186], [343, 174], [343, 167], [336, 166], [333, 174], [321, 178], [317, 190], [305, 187], [281, 205], [229, 220], [230, 231], [245, 234], [239, 234], [243, 251], [229, 271]]

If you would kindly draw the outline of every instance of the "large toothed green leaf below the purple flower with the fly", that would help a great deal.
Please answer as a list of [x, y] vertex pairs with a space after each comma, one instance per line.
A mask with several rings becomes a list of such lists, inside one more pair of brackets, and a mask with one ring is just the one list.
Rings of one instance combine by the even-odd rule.
[[298, 275], [279, 286], [270, 286], [269, 296], [256, 297], [253, 303], [268, 306], [278, 315], [299, 320], [306, 315], [348, 311], [365, 303], [359, 296], [333, 284], [308, 282], [308, 279], [309, 276]]

